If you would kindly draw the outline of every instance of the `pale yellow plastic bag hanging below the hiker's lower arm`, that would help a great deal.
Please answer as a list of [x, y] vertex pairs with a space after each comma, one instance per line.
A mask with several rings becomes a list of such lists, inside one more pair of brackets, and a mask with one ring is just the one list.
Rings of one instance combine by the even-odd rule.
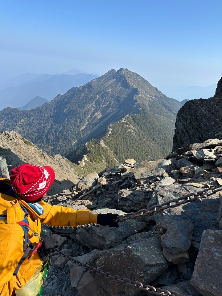
[[42, 265], [39, 266], [37, 271], [28, 280], [28, 282], [19, 290], [15, 290], [16, 296], [36, 296], [39, 294], [39, 290], [43, 284], [41, 272]]

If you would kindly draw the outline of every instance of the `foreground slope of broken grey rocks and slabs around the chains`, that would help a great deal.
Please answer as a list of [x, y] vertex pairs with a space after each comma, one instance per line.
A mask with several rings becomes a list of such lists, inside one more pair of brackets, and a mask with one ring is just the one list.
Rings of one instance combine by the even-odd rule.
[[[222, 185], [222, 136], [177, 149], [158, 161], [125, 160], [90, 174], [76, 186], [45, 199], [54, 205], [124, 215]], [[186, 202], [162, 212], [119, 222], [119, 228], [47, 227], [58, 233], [60, 251], [76, 260], [156, 288], [191, 296], [222, 291], [222, 195]], [[69, 258], [71, 258], [69, 257]], [[133, 287], [89, 273], [55, 254], [48, 272], [47, 296], [142, 295]], [[207, 270], [207, 272], [206, 272]], [[165, 294], [167, 295], [167, 294]]]

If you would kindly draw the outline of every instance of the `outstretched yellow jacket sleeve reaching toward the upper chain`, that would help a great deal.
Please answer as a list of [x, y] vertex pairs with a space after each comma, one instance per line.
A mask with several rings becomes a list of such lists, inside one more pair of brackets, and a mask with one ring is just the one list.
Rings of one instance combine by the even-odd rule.
[[44, 201], [39, 202], [44, 209], [45, 218], [42, 224], [51, 226], [72, 226], [97, 223], [98, 214], [93, 214], [90, 210], [73, 210], [62, 206], [51, 206]]

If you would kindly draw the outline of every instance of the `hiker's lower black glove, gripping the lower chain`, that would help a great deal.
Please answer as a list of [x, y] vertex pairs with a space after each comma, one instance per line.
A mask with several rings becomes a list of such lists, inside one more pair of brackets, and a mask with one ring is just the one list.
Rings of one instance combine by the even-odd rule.
[[42, 261], [48, 260], [51, 253], [56, 251], [61, 236], [58, 234], [52, 234], [43, 239], [42, 245], [37, 249], [37, 253]]

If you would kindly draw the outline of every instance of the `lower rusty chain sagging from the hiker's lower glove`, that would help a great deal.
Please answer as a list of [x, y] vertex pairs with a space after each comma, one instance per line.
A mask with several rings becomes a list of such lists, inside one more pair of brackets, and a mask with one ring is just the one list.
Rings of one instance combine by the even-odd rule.
[[[137, 282], [137, 281], [131, 281], [129, 278], [121, 278], [117, 274], [112, 275], [112, 273], [105, 272], [100, 267], [96, 268], [96, 267], [90, 266], [90, 265], [88, 265], [86, 263], [82, 263], [82, 262], [74, 259], [73, 257], [68, 256], [68, 255], [60, 252], [58, 249], [56, 250], [56, 253], [60, 254], [62, 257], [64, 257], [67, 260], [70, 260], [71, 262], [75, 263], [76, 265], [81, 266], [82, 268], [84, 268], [86, 270], [89, 270], [89, 272], [96, 272], [97, 275], [103, 275], [104, 278], [113, 279], [114, 282], [121, 283], [124, 286], [131, 286], [131, 287], [134, 287], [137, 290], [145, 291], [148, 294], [157, 295], [157, 296], [164, 296], [164, 295], [166, 295], [166, 296], [171, 296], [171, 295], [185, 296], [185, 295], [179, 294], [177, 292], [168, 291], [168, 290], [164, 290], [164, 289], [161, 289], [161, 288], [155, 288], [155, 287], [150, 286], [150, 285], [144, 285], [141, 282]], [[192, 296], [192, 295], [187, 295], [187, 296]]]

